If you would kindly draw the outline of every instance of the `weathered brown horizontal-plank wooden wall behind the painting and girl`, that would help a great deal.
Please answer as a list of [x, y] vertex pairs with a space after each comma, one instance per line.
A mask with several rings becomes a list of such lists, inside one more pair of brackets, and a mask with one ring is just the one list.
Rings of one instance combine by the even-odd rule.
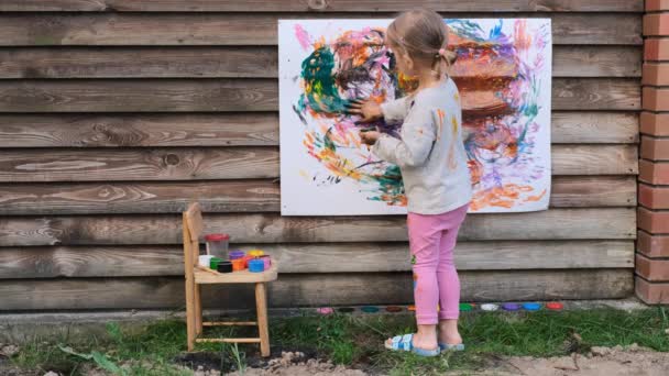
[[3, 0], [0, 310], [183, 305], [191, 200], [279, 259], [274, 306], [410, 301], [402, 218], [278, 213], [276, 21], [417, 4], [553, 25], [551, 208], [468, 219], [463, 298], [628, 296], [640, 0]]

